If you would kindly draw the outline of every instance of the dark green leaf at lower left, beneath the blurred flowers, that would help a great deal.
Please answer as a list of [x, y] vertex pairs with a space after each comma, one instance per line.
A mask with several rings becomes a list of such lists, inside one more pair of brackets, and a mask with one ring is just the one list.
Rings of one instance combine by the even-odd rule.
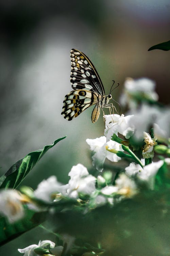
[[0, 218], [0, 246], [20, 236], [24, 232], [38, 226], [46, 220], [47, 212], [34, 212], [25, 209], [24, 218], [15, 222], [9, 223], [5, 217]]

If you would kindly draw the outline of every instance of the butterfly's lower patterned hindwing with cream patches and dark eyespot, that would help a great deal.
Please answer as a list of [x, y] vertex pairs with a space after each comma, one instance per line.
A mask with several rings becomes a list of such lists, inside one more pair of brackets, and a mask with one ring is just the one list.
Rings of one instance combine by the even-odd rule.
[[[97, 104], [101, 96], [87, 90], [71, 91], [63, 101], [62, 115], [67, 120], [72, 120], [80, 115], [85, 109]], [[100, 113], [100, 112], [99, 112]]]

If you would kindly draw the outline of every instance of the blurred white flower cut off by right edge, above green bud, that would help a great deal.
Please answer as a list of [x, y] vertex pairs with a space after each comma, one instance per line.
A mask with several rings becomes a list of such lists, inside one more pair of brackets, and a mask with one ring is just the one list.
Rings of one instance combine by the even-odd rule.
[[170, 138], [170, 109], [160, 111], [155, 120], [154, 136], [162, 142], [166, 142]]

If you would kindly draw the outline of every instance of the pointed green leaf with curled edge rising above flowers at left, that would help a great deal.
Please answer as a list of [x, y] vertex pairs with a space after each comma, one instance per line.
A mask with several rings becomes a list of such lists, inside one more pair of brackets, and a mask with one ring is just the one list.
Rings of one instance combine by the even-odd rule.
[[29, 153], [24, 158], [20, 159], [11, 168], [0, 177], [0, 188], [17, 188], [23, 179], [29, 174], [39, 159], [57, 142], [66, 137], [57, 139], [52, 145], [45, 146], [43, 150], [37, 150]]

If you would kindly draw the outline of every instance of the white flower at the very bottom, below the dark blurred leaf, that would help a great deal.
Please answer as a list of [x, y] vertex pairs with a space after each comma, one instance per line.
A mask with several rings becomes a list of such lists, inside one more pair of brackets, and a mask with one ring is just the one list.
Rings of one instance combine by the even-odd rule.
[[44, 240], [44, 241], [40, 240], [38, 244], [32, 244], [26, 248], [18, 249], [18, 252], [24, 253], [23, 256], [36, 256], [37, 254], [34, 252], [34, 249], [38, 247], [45, 247], [48, 244], [50, 245], [50, 248], [54, 248], [55, 246], [55, 243], [51, 242], [50, 240]]

